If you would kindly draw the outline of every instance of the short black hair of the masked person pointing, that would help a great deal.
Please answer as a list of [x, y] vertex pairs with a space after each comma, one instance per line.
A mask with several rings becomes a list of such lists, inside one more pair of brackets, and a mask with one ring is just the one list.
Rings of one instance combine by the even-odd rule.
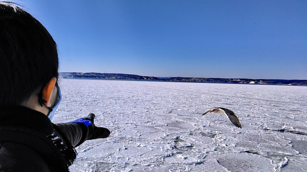
[[58, 79], [58, 66], [47, 29], [20, 5], [0, 2], [0, 107], [38, 95], [52, 77]]

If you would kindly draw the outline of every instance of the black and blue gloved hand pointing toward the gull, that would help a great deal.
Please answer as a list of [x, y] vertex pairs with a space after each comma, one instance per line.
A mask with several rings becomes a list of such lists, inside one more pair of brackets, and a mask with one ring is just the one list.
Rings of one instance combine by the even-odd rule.
[[95, 114], [89, 113], [86, 117], [71, 121], [69, 123], [77, 123], [82, 127], [84, 134], [86, 134], [85, 140], [109, 137], [110, 130], [107, 128], [95, 126], [94, 119]]

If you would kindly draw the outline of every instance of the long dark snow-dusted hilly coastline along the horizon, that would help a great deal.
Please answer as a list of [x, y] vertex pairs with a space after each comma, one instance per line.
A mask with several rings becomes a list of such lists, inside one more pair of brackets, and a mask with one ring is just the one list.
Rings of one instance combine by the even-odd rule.
[[213, 83], [244, 83], [244, 84], [307, 86], [307, 80], [285, 80], [285, 79], [152, 77], [152, 76], [140, 76], [140, 75], [130, 75], [130, 74], [119, 74], [119, 73], [78, 73], [78, 72], [60, 72], [60, 77], [88, 78], [88, 79], [122, 79], [122, 80], [171, 81], [171, 82], [213, 82]]

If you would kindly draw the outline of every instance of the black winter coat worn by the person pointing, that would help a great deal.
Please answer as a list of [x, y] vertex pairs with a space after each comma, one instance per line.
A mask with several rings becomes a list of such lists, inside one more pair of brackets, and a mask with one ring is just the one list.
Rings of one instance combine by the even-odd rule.
[[[108, 129], [100, 130], [105, 134], [100, 138], [109, 136]], [[23, 106], [0, 107], [0, 172], [68, 171], [76, 158], [74, 147], [89, 136], [80, 124], [53, 124], [45, 114]]]

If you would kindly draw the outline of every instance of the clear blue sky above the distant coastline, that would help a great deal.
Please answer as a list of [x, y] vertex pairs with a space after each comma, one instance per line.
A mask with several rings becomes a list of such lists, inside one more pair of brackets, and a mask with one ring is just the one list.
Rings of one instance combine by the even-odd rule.
[[307, 0], [24, 0], [61, 72], [307, 79]]

